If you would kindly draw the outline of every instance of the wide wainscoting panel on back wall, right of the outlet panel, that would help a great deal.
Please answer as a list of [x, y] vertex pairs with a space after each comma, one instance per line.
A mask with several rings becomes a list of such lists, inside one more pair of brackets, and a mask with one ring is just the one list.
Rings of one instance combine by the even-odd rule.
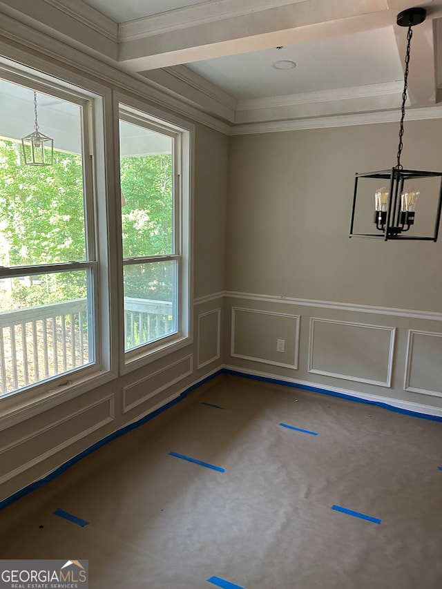
[[310, 319], [309, 372], [390, 387], [394, 327]]

